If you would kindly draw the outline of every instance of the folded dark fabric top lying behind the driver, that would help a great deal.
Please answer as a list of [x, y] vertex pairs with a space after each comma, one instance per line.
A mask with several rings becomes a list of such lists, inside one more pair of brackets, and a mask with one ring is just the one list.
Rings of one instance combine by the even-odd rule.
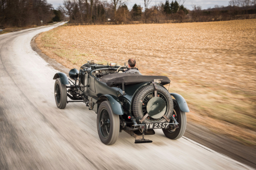
[[133, 73], [116, 73], [107, 74], [99, 79], [101, 82], [107, 83], [108, 86], [114, 86], [125, 83], [125, 85], [137, 84], [141, 82], [154, 82], [154, 79], [163, 79], [161, 85], [166, 85], [170, 82], [170, 79], [166, 76], [143, 76]]

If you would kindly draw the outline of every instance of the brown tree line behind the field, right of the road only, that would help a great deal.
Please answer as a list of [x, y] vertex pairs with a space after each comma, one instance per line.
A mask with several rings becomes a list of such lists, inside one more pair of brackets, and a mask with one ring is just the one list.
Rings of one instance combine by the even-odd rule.
[[[59, 9], [73, 24], [132, 24], [183, 23], [256, 18], [256, 0], [230, 0], [229, 6], [215, 6], [202, 10], [192, 5], [184, 7], [185, 0], [166, 0], [151, 4], [141, 0], [129, 10], [123, 0], [64, 0]], [[242, 16], [241, 16], [242, 15]]]

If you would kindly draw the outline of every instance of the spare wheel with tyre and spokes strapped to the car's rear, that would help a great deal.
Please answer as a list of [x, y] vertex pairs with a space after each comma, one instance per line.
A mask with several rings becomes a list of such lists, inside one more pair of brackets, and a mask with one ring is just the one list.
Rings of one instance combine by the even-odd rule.
[[[138, 91], [136, 96], [134, 97], [133, 104], [132, 104], [132, 110], [134, 117], [137, 119], [137, 121], [140, 121], [143, 116], [148, 113], [150, 103], [151, 101], [159, 101], [162, 102], [162, 104], [165, 103], [166, 108], [163, 108], [163, 114], [166, 115], [166, 117], [170, 118], [173, 113], [173, 101], [172, 96], [170, 95], [169, 91], [166, 90], [161, 85], [157, 85], [157, 97], [154, 96], [154, 85], [147, 85]], [[161, 99], [160, 99], [161, 98]], [[158, 104], [158, 102], [157, 102]], [[150, 112], [150, 111], [149, 111]], [[166, 119], [163, 118], [163, 114], [158, 117], [151, 117], [148, 116], [143, 122], [144, 123], [152, 123], [152, 122], [166, 122]], [[150, 114], [149, 114], [150, 115]]]

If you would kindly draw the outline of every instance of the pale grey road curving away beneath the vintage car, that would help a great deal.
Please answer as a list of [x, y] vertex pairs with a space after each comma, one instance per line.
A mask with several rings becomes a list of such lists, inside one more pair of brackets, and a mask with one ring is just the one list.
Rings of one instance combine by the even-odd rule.
[[32, 50], [38, 33], [56, 26], [0, 35], [0, 170], [242, 170], [251, 169], [185, 137], [166, 138], [162, 130], [151, 144], [134, 144], [119, 133], [102, 144], [96, 113], [83, 103], [55, 105], [57, 70]]

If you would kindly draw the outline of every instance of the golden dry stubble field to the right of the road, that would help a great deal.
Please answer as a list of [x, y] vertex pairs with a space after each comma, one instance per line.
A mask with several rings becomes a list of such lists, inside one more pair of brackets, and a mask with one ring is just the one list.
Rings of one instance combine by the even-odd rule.
[[184, 96], [188, 121], [256, 145], [256, 19], [211, 23], [62, 26], [36, 42], [68, 68], [87, 60], [165, 75]]

